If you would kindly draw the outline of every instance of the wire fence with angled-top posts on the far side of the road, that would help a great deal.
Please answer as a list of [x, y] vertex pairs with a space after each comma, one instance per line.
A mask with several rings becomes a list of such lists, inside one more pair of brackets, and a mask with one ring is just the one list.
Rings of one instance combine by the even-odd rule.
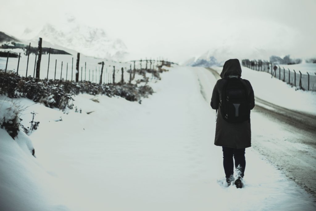
[[286, 70], [280, 65], [270, 63], [263, 60], [243, 59], [242, 65], [255, 71], [264, 71], [271, 74], [271, 78], [275, 77], [287, 84], [293, 85], [301, 90], [316, 91], [316, 72], [302, 74], [301, 71]]

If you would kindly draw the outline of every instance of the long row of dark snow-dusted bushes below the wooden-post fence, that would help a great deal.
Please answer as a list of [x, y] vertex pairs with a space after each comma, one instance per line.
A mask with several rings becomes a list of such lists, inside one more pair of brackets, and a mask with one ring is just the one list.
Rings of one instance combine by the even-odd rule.
[[[159, 69], [159, 72], [165, 71]], [[160, 78], [159, 72], [154, 70], [138, 71], [147, 79], [142, 82], [148, 82], [144, 72], [152, 73], [156, 78]], [[137, 101], [141, 103], [142, 97], [147, 97], [153, 93], [150, 86], [138, 86], [137, 84], [96, 84], [89, 81], [78, 83], [63, 80], [38, 80], [32, 77], [16, 76], [13, 72], [4, 73], [0, 71], [0, 94], [7, 95], [10, 98], [26, 97], [34, 102], [43, 103], [49, 108], [58, 108], [61, 110], [73, 108], [71, 103], [74, 95], [87, 93], [90, 95], [103, 94], [109, 97], [120, 96], [128, 101]]]

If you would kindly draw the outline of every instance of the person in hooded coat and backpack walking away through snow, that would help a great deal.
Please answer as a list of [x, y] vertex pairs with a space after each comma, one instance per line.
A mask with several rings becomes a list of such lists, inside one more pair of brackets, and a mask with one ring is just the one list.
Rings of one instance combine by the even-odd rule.
[[[226, 182], [242, 188], [245, 148], [251, 146], [250, 110], [255, 106], [250, 82], [241, 77], [238, 59], [229, 59], [213, 89], [210, 105], [216, 109], [216, 146], [222, 146]], [[218, 112], [217, 112], [218, 110]], [[234, 160], [235, 177], [234, 177]]]

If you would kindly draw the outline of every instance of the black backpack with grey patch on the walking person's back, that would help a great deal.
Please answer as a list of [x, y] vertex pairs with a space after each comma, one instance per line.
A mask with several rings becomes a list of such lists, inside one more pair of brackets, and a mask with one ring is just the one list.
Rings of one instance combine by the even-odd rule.
[[231, 123], [250, 120], [250, 101], [246, 82], [240, 77], [224, 78], [220, 99], [221, 115]]

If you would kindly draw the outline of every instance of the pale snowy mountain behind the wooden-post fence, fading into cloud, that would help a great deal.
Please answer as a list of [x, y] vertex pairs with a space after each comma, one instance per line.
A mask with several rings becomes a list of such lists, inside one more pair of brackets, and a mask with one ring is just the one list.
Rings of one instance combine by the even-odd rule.
[[[25, 31], [26, 35], [29, 33], [29, 30]], [[122, 60], [128, 53], [122, 40], [112, 40], [103, 29], [79, 24], [72, 16], [65, 19], [62, 27], [49, 23], [44, 25], [33, 40], [37, 41], [39, 37], [52, 45], [73, 49], [87, 56]]]

